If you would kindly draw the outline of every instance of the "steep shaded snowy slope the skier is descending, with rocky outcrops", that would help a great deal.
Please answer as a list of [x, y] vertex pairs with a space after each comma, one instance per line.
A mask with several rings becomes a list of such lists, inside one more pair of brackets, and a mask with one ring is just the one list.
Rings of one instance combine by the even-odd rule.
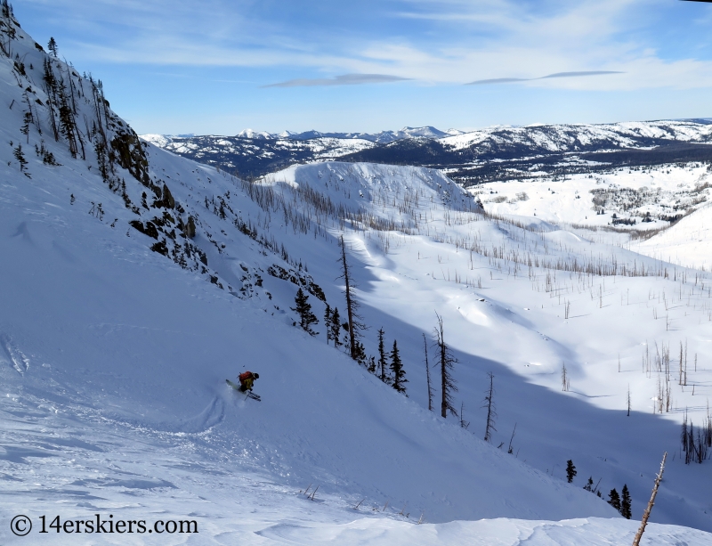
[[[19, 498], [31, 517], [56, 501], [66, 509], [62, 517], [155, 512], [168, 497], [178, 499], [169, 502], [176, 513], [192, 512], [203, 494], [219, 504], [211, 472], [231, 476], [222, 487], [263, 476], [270, 484], [253, 498], [277, 511], [287, 491], [313, 482], [327, 498], [407, 502], [409, 511], [436, 522], [615, 514], [580, 488], [438, 419], [343, 352], [296, 330], [294, 315], [285, 313], [294, 283], [264, 271], [279, 265], [318, 293], [308, 273], [293, 269], [296, 257], [310, 255], [304, 248], [311, 238], [296, 249], [287, 245], [290, 261], [268, 252], [250, 235], [269, 231], [270, 220], [244, 184], [135, 142], [112, 146], [102, 180], [103, 156], [81, 159], [78, 151], [92, 139], [96, 148], [98, 130], [76, 126], [69, 137], [48, 138], [48, 94], [40, 91], [40, 76], [27, 73], [48, 58], [11, 18], [4, 22], [27, 67], [23, 76], [2, 59], [4, 104], [20, 103], [25, 86], [39, 100], [27, 135], [19, 131], [19, 108], [8, 107], [2, 126], [4, 518]], [[57, 73], [68, 70], [50, 61]], [[12, 84], [13, 71], [21, 86]], [[71, 69], [67, 77], [78, 89], [89, 85]], [[95, 105], [78, 91], [75, 100], [74, 115], [89, 129]], [[113, 134], [133, 138], [109, 110], [100, 116], [109, 143]], [[19, 135], [26, 164], [15, 153]], [[70, 138], [77, 149], [69, 148]], [[35, 144], [47, 153], [36, 155]], [[116, 159], [122, 151], [127, 167]], [[42, 161], [49, 152], [52, 164]], [[451, 200], [436, 176], [421, 175], [433, 180], [433, 197]], [[192, 237], [184, 235], [190, 218], [197, 226]], [[291, 239], [300, 237], [293, 232]], [[313, 274], [334, 278], [332, 257], [313, 264]], [[336, 299], [331, 283], [325, 289]], [[224, 385], [245, 367], [262, 373], [261, 403]], [[197, 517], [209, 520], [212, 510]], [[2, 532], [4, 541], [12, 538], [5, 526]]]

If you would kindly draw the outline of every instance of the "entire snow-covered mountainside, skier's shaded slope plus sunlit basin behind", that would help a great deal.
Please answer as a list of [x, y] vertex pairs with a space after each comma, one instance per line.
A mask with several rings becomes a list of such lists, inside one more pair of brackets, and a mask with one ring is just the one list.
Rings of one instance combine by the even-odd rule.
[[[661, 453], [679, 449], [676, 410], [696, 430], [708, 419], [706, 274], [488, 216], [434, 169], [325, 161], [239, 179], [141, 143], [98, 82], [44, 53], [7, 4], [0, 20], [4, 543], [41, 542], [42, 516], [72, 522], [50, 528], [68, 544], [95, 517], [195, 521], [200, 544], [631, 539], [635, 521], [583, 485], [627, 485], [640, 517]], [[341, 237], [365, 351], [381, 328], [398, 341], [408, 396], [325, 335], [326, 305], [345, 315]], [[434, 312], [459, 361], [459, 419], [428, 411]], [[224, 383], [246, 369], [261, 402]], [[660, 381], [675, 402], [653, 415]], [[680, 527], [712, 529], [709, 472], [668, 462], [652, 520], [675, 525], [646, 541], [712, 544]], [[35, 527], [15, 538], [20, 514]]]

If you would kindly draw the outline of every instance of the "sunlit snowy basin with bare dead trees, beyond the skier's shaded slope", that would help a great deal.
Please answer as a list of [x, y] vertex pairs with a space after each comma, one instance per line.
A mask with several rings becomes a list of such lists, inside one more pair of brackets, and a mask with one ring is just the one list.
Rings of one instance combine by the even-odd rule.
[[[298, 202], [295, 185], [321, 188], [331, 200], [368, 208], [401, 226], [399, 233], [352, 224], [347, 240], [364, 266], [359, 281], [367, 322], [373, 330], [385, 324], [386, 335], [398, 338], [399, 346], [409, 339], [403, 354], [409, 373], [416, 371], [409, 376], [412, 397], [427, 404], [425, 373], [418, 371], [422, 345], [416, 340], [432, 331], [433, 310], [438, 311], [459, 351], [457, 400], [473, 427], [483, 427], [479, 407], [486, 371], [494, 371], [502, 420], [497, 444], [508, 444], [516, 423], [514, 449], [520, 446], [528, 463], [563, 477], [566, 459], [585, 461], [582, 485], [589, 474], [601, 478], [604, 491], [627, 483], [639, 508], [656, 460], [663, 451], [675, 452], [656, 517], [708, 528], [708, 496], [698, 484], [708, 479], [709, 466], [685, 465], [676, 452], [676, 423], [685, 408], [698, 427], [708, 416], [708, 279], [700, 283], [699, 272], [606, 240], [581, 239], [535, 217], [520, 216], [520, 225], [527, 226], [522, 229], [493, 222], [472, 207], [448, 213], [452, 208], [441, 205], [427, 178], [435, 172], [329, 163], [291, 167], [264, 183], [283, 182], [280, 191], [289, 202]], [[379, 193], [386, 186], [389, 197]], [[457, 192], [456, 185], [450, 187]], [[401, 203], [414, 205], [393, 206], [399, 194]], [[308, 259], [310, 271], [315, 259]], [[616, 274], [599, 276], [600, 270]], [[373, 354], [375, 333], [369, 337]], [[688, 376], [678, 386], [681, 342], [687, 344]], [[675, 387], [663, 407], [666, 419], [659, 419], [651, 414], [658, 412], [657, 381], [663, 379], [664, 387], [666, 374], [654, 362], [664, 350], [672, 354], [667, 377]], [[645, 358], [651, 364], [642, 368]], [[561, 392], [562, 363], [570, 374], [567, 393]], [[635, 418], [626, 415], [628, 388]]]

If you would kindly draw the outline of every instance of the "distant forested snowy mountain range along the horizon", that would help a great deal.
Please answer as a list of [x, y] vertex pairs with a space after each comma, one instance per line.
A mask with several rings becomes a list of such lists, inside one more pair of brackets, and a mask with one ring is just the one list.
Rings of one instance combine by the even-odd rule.
[[340, 159], [440, 168], [466, 185], [611, 167], [712, 160], [712, 120], [598, 125], [493, 126], [476, 131], [433, 126], [380, 133], [280, 134], [246, 129], [234, 136], [144, 134], [184, 157], [242, 176], [298, 163]]

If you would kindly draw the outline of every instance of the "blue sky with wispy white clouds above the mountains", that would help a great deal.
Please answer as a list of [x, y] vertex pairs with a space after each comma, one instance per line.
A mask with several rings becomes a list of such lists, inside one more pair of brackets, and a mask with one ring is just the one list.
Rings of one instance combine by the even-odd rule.
[[[139, 133], [712, 117], [712, 4], [22, 0], [13, 7], [36, 41], [54, 37], [77, 69], [101, 78], [112, 108]], [[487, 81], [502, 79], [517, 81]]]

